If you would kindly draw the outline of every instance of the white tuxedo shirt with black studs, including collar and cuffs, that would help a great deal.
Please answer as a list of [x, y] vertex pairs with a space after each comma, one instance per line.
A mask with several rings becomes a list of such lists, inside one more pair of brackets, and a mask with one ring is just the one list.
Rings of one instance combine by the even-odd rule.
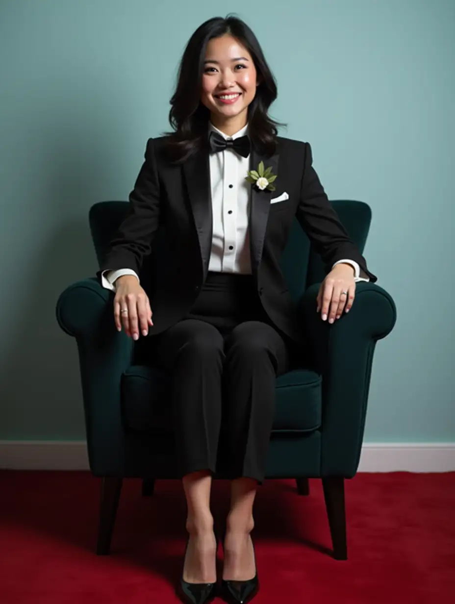
[[[242, 137], [248, 132], [248, 124], [228, 137], [209, 122], [209, 129], [215, 130], [226, 140]], [[251, 274], [250, 214], [251, 185], [245, 181], [250, 170], [250, 156], [242, 157], [234, 149], [225, 149], [210, 153], [211, 208], [213, 214], [213, 235], [211, 242], [209, 271]], [[285, 198], [283, 198], [285, 199]], [[280, 198], [271, 200], [279, 203]], [[369, 277], [360, 276], [360, 266], [354, 260], [338, 260], [334, 266], [344, 262], [353, 266], [354, 281], [369, 281]], [[132, 269], [103, 271], [102, 285], [115, 291], [115, 280], [122, 275], [135, 275]]]

